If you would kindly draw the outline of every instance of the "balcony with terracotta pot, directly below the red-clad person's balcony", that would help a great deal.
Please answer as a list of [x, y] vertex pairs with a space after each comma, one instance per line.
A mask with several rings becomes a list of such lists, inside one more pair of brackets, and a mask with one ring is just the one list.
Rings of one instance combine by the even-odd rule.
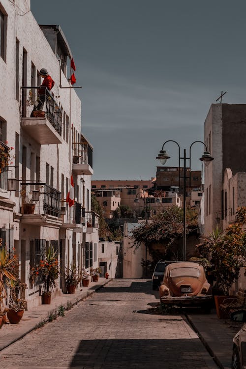
[[46, 183], [21, 183], [21, 222], [61, 226], [61, 192]]

